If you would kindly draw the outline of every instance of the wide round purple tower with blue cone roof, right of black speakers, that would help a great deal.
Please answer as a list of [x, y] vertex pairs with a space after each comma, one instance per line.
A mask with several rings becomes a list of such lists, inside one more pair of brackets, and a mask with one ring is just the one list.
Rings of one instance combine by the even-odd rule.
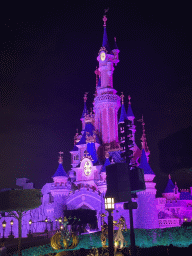
[[136, 211], [137, 228], [154, 229], [159, 228], [158, 210], [156, 207], [156, 189], [153, 179], [155, 174], [147, 162], [145, 150], [142, 150], [140, 166], [144, 171], [146, 190], [137, 192], [138, 208]]

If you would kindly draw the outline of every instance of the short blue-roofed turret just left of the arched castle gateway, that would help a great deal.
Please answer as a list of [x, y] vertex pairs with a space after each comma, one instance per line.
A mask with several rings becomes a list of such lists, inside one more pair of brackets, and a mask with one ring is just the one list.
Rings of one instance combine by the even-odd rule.
[[66, 198], [71, 190], [68, 184], [68, 175], [63, 168], [63, 152], [59, 152], [59, 166], [53, 175], [54, 185], [51, 188], [51, 195], [54, 198], [54, 215], [56, 218], [63, 217], [63, 210], [66, 205]]

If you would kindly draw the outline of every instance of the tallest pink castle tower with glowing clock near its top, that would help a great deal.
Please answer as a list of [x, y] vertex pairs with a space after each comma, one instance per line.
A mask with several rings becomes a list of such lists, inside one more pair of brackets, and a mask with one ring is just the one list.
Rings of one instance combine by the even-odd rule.
[[113, 71], [114, 65], [119, 62], [119, 49], [110, 50], [106, 31], [106, 16], [103, 17], [103, 21], [103, 44], [97, 57], [100, 77], [94, 98], [95, 128], [102, 143], [110, 145], [110, 148], [115, 148], [118, 143], [117, 113], [120, 107], [120, 97], [113, 89]]

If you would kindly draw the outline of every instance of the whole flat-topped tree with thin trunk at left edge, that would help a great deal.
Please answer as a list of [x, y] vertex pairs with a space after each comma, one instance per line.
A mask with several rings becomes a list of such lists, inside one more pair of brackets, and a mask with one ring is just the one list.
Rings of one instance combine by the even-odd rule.
[[7, 217], [14, 217], [18, 220], [19, 245], [18, 255], [21, 255], [22, 217], [32, 209], [41, 205], [40, 189], [16, 189], [0, 192], [0, 211], [7, 214]]

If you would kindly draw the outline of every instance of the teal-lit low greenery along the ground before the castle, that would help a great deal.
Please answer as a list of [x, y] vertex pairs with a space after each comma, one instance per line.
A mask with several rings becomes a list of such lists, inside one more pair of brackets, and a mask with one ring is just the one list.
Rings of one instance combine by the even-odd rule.
[[[127, 242], [126, 247], [130, 246], [130, 230], [123, 233]], [[61, 251], [79, 250], [80, 248], [90, 249], [92, 245], [95, 248], [101, 247], [101, 232], [81, 235], [79, 244], [75, 249], [54, 250], [50, 244], [33, 247], [22, 251], [23, 256], [42, 256]], [[192, 227], [176, 227], [165, 229], [135, 229], [135, 243], [140, 248], [151, 248], [158, 246], [169, 246], [172, 244], [176, 247], [188, 247], [192, 244]], [[16, 254], [14, 254], [16, 256]]]

